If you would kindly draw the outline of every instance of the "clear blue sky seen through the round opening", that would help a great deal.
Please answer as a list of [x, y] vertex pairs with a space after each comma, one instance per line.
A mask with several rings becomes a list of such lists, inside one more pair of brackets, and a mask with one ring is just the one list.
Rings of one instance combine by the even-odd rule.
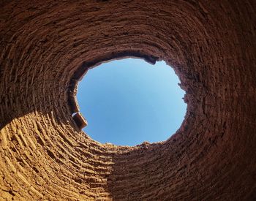
[[167, 140], [187, 109], [178, 83], [164, 61], [125, 58], [90, 69], [78, 84], [80, 113], [88, 121], [83, 131], [115, 145]]

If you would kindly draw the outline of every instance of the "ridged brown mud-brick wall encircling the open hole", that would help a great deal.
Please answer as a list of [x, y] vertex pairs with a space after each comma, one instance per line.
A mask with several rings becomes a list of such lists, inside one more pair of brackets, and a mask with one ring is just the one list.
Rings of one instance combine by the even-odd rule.
[[[1, 199], [254, 200], [255, 10], [254, 0], [1, 0]], [[102, 145], [72, 118], [86, 69], [123, 56], [164, 59], [187, 91], [165, 142]]]

